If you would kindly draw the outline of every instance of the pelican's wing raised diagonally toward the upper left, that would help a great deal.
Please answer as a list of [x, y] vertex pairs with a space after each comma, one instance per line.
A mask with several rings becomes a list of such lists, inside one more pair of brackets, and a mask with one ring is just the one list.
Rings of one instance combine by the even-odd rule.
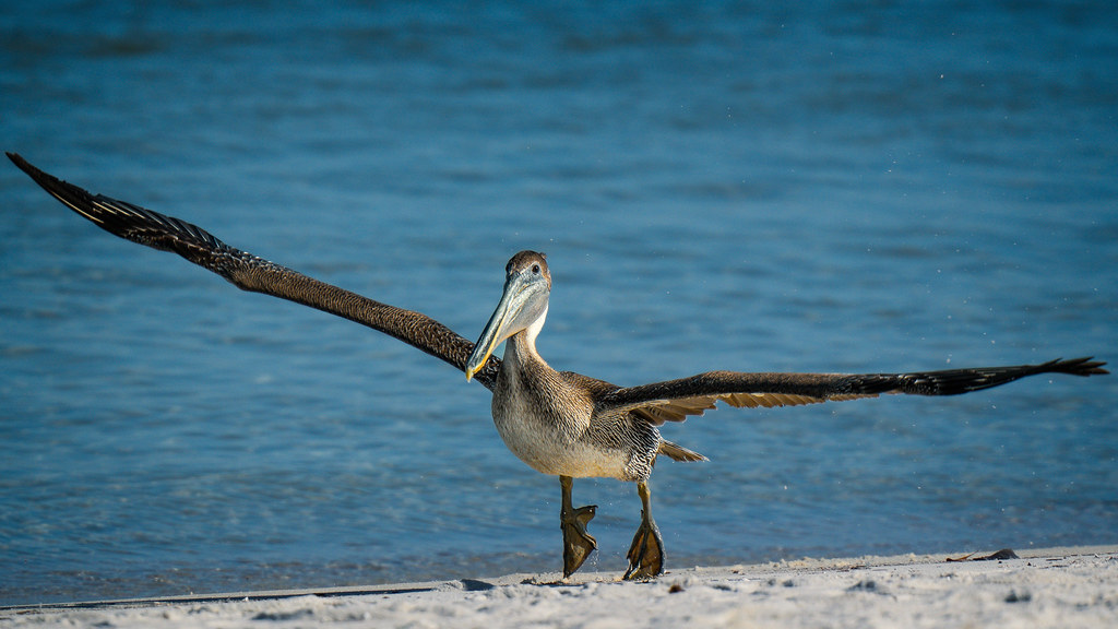
[[[7, 153], [36, 184], [102, 229], [142, 245], [170, 251], [221, 275], [241, 290], [310, 306], [368, 326], [465, 369], [474, 344], [438, 321], [321, 282], [231, 247], [201, 227], [130, 203], [93, 195]], [[493, 388], [501, 362], [491, 357], [474, 377]]]

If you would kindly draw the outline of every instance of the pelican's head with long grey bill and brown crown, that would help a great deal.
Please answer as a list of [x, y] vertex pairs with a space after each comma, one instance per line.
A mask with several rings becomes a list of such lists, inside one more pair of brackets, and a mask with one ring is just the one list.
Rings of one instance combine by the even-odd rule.
[[509, 337], [528, 330], [529, 342], [534, 342], [548, 316], [551, 273], [542, 253], [518, 253], [509, 261], [504, 273], [504, 294], [466, 362], [466, 379], [474, 377], [496, 346]]

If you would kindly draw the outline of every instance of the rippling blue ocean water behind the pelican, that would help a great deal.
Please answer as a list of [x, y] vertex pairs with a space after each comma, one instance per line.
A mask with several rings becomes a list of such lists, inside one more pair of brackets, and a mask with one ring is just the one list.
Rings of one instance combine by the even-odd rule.
[[[1118, 359], [1110, 2], [214, 4], [6, 8], [2, 148], [467, 338], [546, 251], [541, 353], [617, 384]], [[0, 199], [0, 604], [559, 569], [483, 387]], [[1115, 543], [1116, 403], [666, 426], [669, 567]], [[575, 491], [624, 567], [634, 488]]]

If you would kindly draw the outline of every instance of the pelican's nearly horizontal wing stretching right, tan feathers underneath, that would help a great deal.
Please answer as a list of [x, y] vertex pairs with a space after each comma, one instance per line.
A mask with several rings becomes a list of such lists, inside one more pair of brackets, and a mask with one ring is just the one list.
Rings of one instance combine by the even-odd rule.
[[742, 374], [709, 372], [690, 378], [617, 388], [600, 395], [598, 413], [634, 412], [655, 425], [701, 415], [716, 402], [731, 406], [795, 406], [826, 401], [877, 397], [882, 393], [958, 395], [1001, 386], [1036, 374], [1107, 374], [1091, 358], [1050, 360], [1041, 365], [976, 367], [915, 374]]

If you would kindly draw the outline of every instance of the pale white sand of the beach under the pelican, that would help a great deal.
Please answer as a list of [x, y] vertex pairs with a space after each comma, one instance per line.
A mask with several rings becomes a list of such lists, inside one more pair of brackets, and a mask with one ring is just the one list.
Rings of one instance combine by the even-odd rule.
[[[986, 553], [978, 553], [983, 555]], [[1118, 627], [1118, 546], [8, 608], [0, 627]], [[246, 597], [248, 597], [246, 599]]]

